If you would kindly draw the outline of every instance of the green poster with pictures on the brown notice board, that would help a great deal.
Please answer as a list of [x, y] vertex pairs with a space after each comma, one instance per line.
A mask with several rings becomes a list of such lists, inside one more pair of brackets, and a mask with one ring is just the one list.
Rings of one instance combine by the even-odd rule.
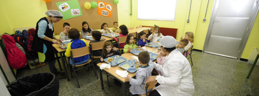
[[56, 3], [58, 10], [63, 14], [63, 19], [70, 19], [83, 15], [77, 0], [69, 0]]

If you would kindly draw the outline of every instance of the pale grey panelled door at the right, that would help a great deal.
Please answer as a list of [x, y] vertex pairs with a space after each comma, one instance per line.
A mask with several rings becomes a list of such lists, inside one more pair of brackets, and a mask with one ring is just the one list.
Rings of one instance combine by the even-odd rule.
[[[257, 1], [258, 2], [258, 1]], [[256, 0], [215, 0], [204, 52], [240, 58]]]

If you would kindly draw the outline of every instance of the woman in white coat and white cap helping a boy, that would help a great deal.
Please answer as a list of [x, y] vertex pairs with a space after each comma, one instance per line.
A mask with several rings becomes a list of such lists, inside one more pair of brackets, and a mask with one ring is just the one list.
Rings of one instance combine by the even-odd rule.
[[[170, 42], [170, 43], [168, 43]], [[175, 48], [176, 40], [172, 36], [164, 36], [159, 40], [160, 49], [167, 56], [162, 65], [155, 64], [155, 69], [163, 76], [150, 76], [146, 82], [155, 82], [155, 87], [149, 96], [192, 96], [194, 94], [193, 75], [189, 61]]]

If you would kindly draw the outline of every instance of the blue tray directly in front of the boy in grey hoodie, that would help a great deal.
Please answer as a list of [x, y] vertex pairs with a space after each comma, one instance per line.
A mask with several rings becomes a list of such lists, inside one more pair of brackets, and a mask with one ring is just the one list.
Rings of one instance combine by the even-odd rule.
[[[123, 69], [129, 71], [129, 73], [135, 73], [135, 72], [138, 70], [138, 68], [135, 68], [135, 66], [138, 66], [138, 65], [135, 65], [136, 62], [138, 62], [138, 61], [133, 60], [132, 63], [131, 63], [130, 60], [127, 60], [127, 61], [125, 61], [125, 62], [119, 64], [119, 67], [123, 66], [124, 64], [129, 64], [129, 68], [123, 68], [123, 67], [121, 67], [121, 68], [123, 68]], [[138, 63], [139, 63], [139, 62], [138, 62]], [[133, 66], [131, 66], [131, 64], [133, 64]]]

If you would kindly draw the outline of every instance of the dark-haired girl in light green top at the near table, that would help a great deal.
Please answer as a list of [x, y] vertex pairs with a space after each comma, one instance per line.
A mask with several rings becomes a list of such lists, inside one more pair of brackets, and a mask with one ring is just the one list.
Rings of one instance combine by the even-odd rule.
[[127, 40], [125, 42], [125, 46], [124, 46], [123, 52], [124, 53], [132, 52], [132, 49], [140, 48], [140, 47], [141, 46], [137, 46], [136, 44], [134, 44], [134, 36], [132, 34], [129, 34], [127, 36]]

